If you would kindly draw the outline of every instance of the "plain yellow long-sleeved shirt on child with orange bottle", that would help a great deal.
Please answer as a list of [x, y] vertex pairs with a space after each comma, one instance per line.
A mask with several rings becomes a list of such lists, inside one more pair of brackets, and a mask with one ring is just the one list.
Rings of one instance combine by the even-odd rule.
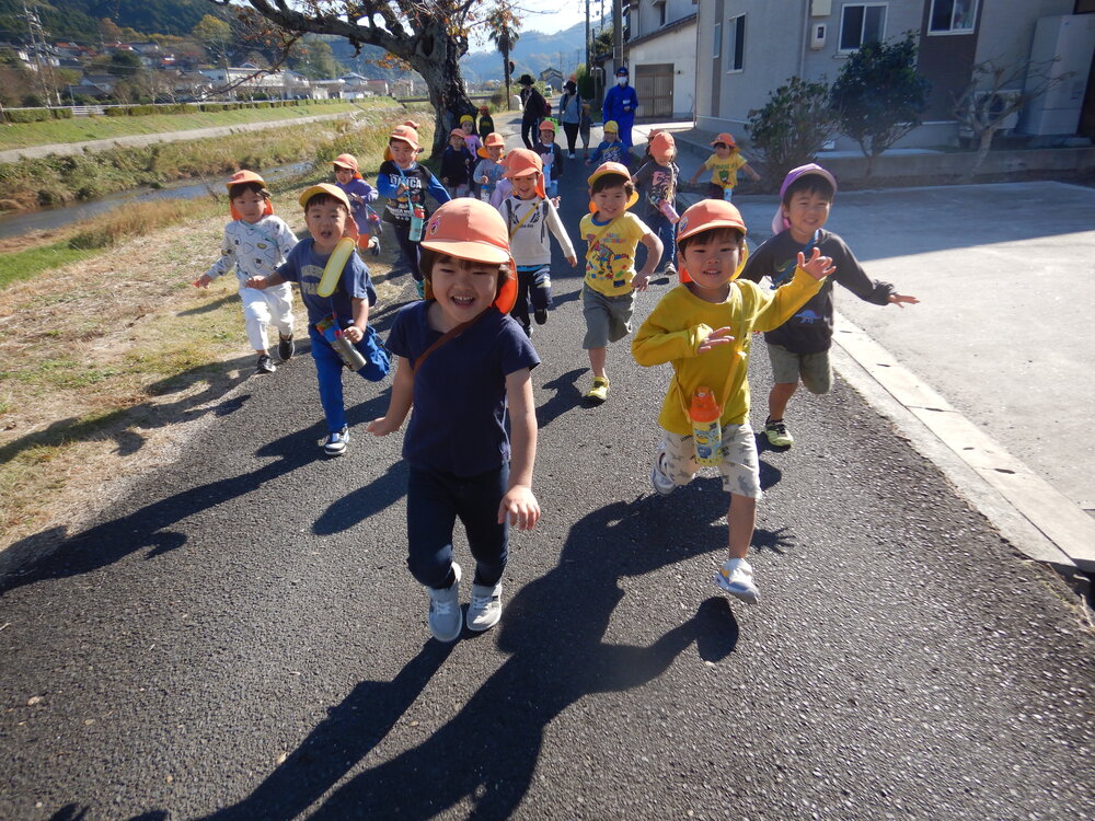
[[[725, 302], [706, 302], [685, 285], [666, 293], [631, 343], [631, 354], [639, 365], [673, 366], [658, 424], [670, 433], [690, 435], [688, 407], [700, 385], [715, 392], [723, 407], [722, 425], [740, 425], [748, 419], [746, 373], [752, 332], [782, 325], [821, 289], [822, 281], [796, 268], [794, 279], [774, 291], [736, 279]], [[714, 328], [726, 326], [734, 328], [734, 344], [698, 352]]]

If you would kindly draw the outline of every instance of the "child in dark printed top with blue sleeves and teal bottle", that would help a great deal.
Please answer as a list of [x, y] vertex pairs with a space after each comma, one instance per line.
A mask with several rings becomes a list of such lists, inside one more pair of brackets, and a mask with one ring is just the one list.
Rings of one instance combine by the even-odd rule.
[[387, 150], [391, 159], [381, 163], [377, 174], [377, 187], [381, 196], [388, 198], [381, 219], [391, 224], [420, 298], [423, 279], [418, 269], [418, 243], [429, 216], [426, 194], [438, 203], [448, 203], [451, 197], [429, 169], [415, 162], [415, 157], [422, 151], [417, 129], [407, 125], [395, 126], [388, 138]]

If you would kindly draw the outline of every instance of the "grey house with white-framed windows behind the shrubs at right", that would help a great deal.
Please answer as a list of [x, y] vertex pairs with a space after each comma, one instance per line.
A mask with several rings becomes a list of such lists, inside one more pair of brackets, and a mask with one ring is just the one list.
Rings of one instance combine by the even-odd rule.
[[[911, 31], [918, 71], [932, 92], [923, 125], [901, 146], [957, 141], [955, 97], [986, 60], [1018, 66], [1021, 73], [1035, 63], [1052, 65], [1054, 74], [1075, 72], [1057, 94], [1028, 105], [1014, 126], [1029, 135], [1073, 135], [1083, 123], [1095, 136], [1091, 12], [1092, 0], [806, 0], [796, 14], [770, 0], [702, 0], [695, 53], [705, 70], [696, 73], [696, 125], [746, 137], [749, 111], [762, 107], [788, 78], [832, 82], [864, 43]], [[842, 139], [838, 147], [853, 143]]]

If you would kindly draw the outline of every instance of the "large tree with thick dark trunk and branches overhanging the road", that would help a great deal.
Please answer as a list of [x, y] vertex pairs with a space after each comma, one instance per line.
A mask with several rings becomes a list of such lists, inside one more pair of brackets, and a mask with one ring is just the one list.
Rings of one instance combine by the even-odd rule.
[[[283, 32], [332, 34], [355, 47], [379, 46], [426, 81], [434, 106], [434, 154], [439, 155], [468, 99], [460, 58], [482, 0], [244, 0]], [[232, 0], [209, 0], [228, 5]], [[237, 8], [233, 5], [233, 8]]]

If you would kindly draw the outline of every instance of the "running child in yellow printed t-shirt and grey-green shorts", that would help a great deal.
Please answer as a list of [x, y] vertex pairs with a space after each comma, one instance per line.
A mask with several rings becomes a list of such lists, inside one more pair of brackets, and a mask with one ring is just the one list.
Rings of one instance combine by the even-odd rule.
[[[586, 241], [586, 277], [581, 284], [581, 314], [593, 383], [586, 398], [600, 404], [609, 396], [604, 370], [608, 345], [631, 333], [635, 291], [645, 291], [661, 261], [661, 240], [627, 209], [638, 201], [631, 174], [618, 162], [607, 162], [589, 176], [589, 210], [579, 232]], [[646, 246], [646, 263], [635, 273], [635, 250]]]

